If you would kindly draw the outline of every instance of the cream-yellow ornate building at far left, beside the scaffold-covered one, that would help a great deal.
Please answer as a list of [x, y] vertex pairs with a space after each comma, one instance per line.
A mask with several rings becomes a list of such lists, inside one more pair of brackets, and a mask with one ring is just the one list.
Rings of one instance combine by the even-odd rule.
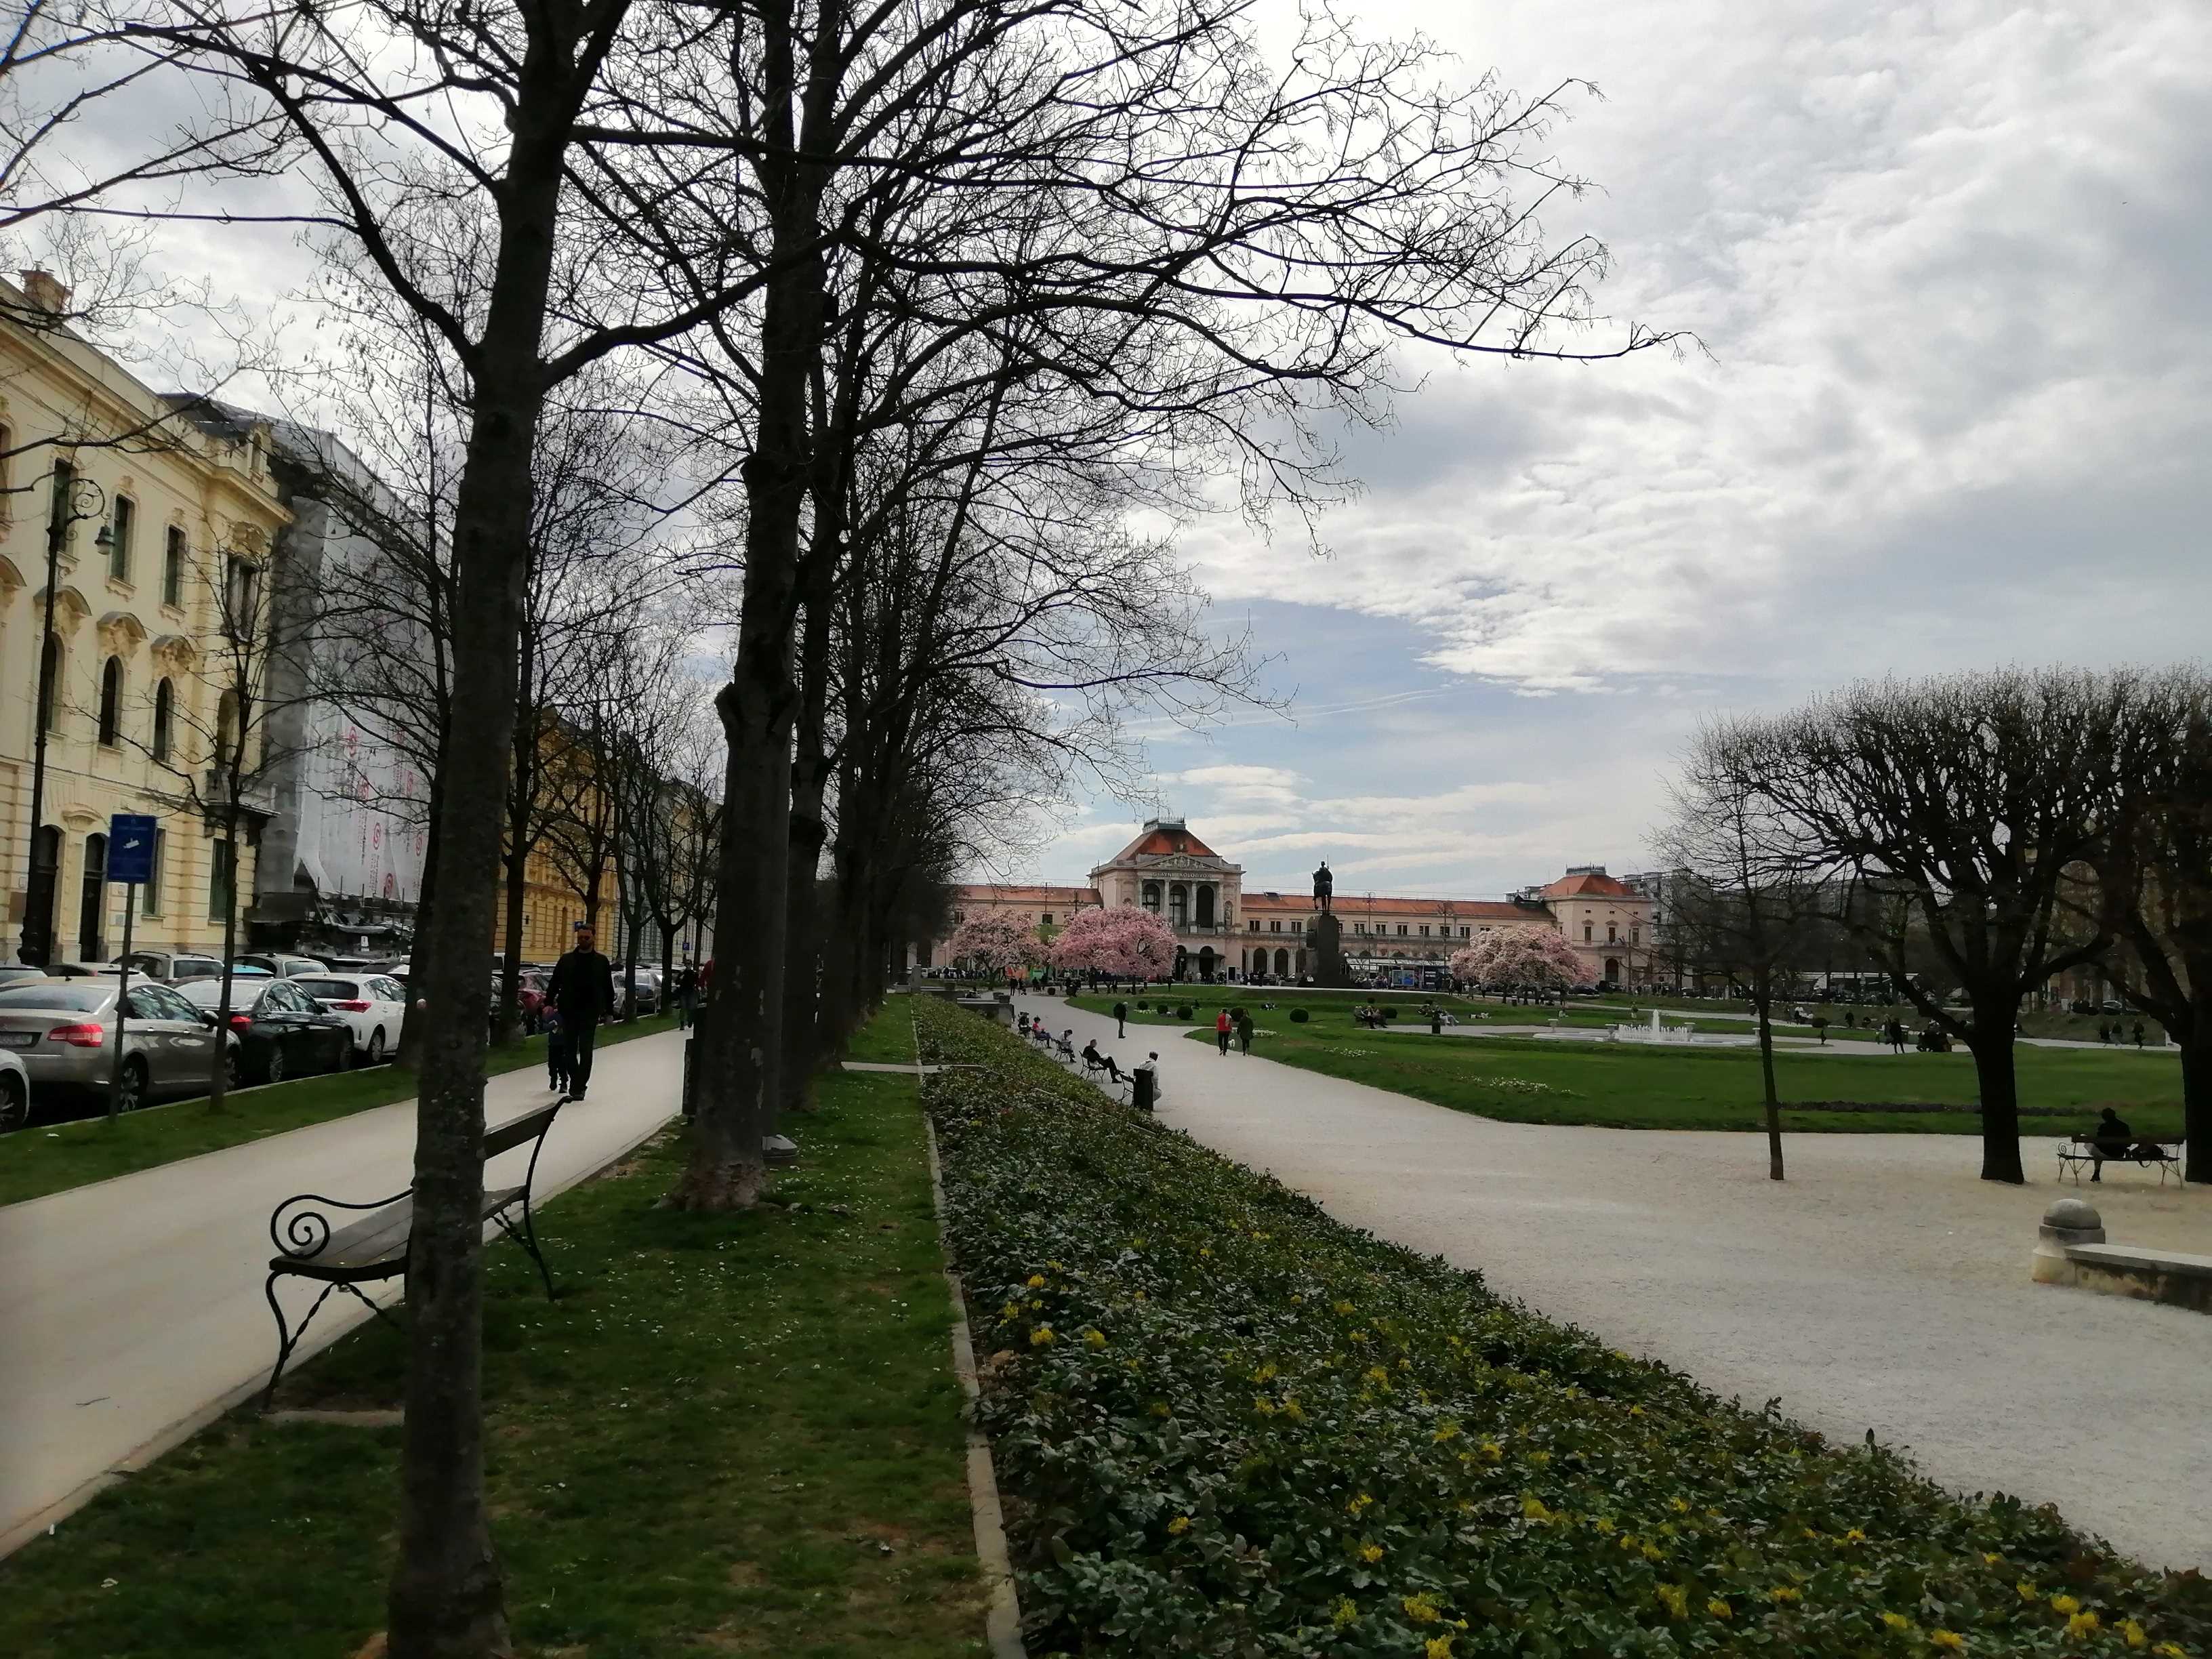
[[[0, 283], [60, 310], [53, 279]], [[49, 960], [108, 960], [122, 894], [104, 883], [108, 818], [161, 821], [135, 947], [219, 949], [234, 891], [252, 891], [250, 783], [232, 847], [192, 801], [228, 794], [226, 686], [265, 637], [268, 549], [288, 522], [268, 429], [201, 425], [66, 327], [0, 323], [0, 889], [13, 960], [29, 905], [38, 703], [51, 684], [38, 856], [55, 867]], [[49, 553], [53, 635], [42, 641]], [[226, 721], [230, 721], [226, 726]], [[243, 931], [241, 931], [243, 940]]]

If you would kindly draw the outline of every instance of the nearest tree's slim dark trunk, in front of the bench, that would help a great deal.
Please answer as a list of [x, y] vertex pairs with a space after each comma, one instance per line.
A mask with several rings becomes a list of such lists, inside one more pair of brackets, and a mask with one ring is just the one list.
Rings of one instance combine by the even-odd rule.
[[[560, 53], [551, 53], [553, 60]], [[484, 1055], [500, 825], [515, 739], [522, 597], [531, 568], [531, 453], [544, 409], [540, 332], [560, 223], [560, 75], [533, 51], [513, 135], [500, 246], [471, 365], [467, 465], [453, 502], [453, 708], [438, 803], [438, 907], [416, 938], [422, 1084], [407, 1239], [407, 1391], [389, 1659], [509, 1652], [504, 1584], [484, 1511]], [[557, 119], [551, 117], [551, 119]], [[518, 860], [522, 849], [515, 849]]]

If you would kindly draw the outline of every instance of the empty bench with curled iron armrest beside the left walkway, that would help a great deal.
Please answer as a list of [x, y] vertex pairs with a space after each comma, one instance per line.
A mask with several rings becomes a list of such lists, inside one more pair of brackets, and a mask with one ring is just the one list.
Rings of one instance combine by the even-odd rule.
[[[500, 1232], [531, 1254], [531, 1261], [538, 1263], [538, 1274], [544, 1279], [546, 1301], [553, 1301], [553, 1272], [546, 1267], [544, 1252], [538, 1248], [538, 1228], [531, 1223], [531, 1186], [538, 1179], [538, 1155], [544, 1152], [546, 1130], [553, 1128], [553, 1115], [564, 1104], [566, 1099], [557, 1099], [498, 1128], [487, 1128], [482, 1150], [482, 1161], [489, 1166], [500, 1152], [511, 1152], [524, 1144], [531, 1148], [531, 1164], [522, 1175], [522, 1186], [484, 1188], [482, 1219], [498, 1223]], [[332, 1210], [361, 1212], [361, 1219], [334, 1228], [330, 1219]], [[268, 1285], [263, 1285], [263, 1296], [276, 1316], [276, 1369], [270, 1371], [270, 1385], [261, 1391], [263, 1411], [276, 1398], [283, 1367], [332, 1292], [347, 1292], [380, 1321], [396, 1325], [392, 1314], [378, 1307], [361, 1287], [407, 1274], [407, 1239], [411, 1232], [411, 1190], [378, 1199], [376, 1203], [347, 1203], [345, 1199], [325, 1199], [319, 1192], [301, 1192], [270, 1212], [270, 1243], [276, 1245], [276, 1254], [270, 1256], [270, 1276]], [[323, 1285], [323, 1292], [296, 1327], [285, 1321], [283, 1303], [276, 1301], [279, 1279], [310, 1279]]]

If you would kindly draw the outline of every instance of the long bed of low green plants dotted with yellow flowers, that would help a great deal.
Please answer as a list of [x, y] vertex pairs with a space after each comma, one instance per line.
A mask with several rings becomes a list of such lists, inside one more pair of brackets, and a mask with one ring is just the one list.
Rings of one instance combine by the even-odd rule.
[[[1491, 1296], [920, 1000], [1031, 1652], [2194, 1655], [2203, 1579]], [[2115, 1478], [2124, 1478], [2115, 1473]]]

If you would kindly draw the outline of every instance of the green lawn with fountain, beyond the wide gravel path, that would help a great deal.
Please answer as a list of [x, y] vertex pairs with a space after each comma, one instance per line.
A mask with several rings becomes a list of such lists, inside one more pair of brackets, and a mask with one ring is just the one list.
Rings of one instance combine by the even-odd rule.
[[[1254, 1053], [1349, 1082], [1515, 1124], [1617, 1128], [1761, 1128], [1756, 1048], [1635, 1048], [1544, 1037], [1431, 1037], [1365, 1031], [1336, 1011], [1256, 1013]], [[1402, 1024], [1402, 1022], [1400, 1022]], [[1210, 1042], [1199, 1033], [1194, 1042]], [[1776, 1051], [1783, 1124], [1809, 1130], [1980, 1133], [1973, 1057], [1823, 1055]], [[1787, 1102], [1851, 1102], [1874, 1110], [1818, 1110]], [[1940, 1104], [1960, 1110], [1880, 1110]], [[2062, 1137], [2119, 1106], [2137, 1135], [2181, 1133], [2181, 1068], [2172, 1055], [2020, 1048], [2022, 1128]]]

